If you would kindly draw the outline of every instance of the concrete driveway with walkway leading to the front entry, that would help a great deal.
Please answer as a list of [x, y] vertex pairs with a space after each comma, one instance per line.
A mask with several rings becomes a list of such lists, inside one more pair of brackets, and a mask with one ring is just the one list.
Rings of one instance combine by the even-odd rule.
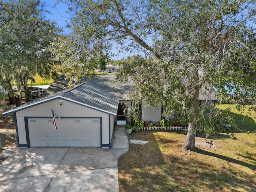
[[6, 149], [1, 192], [118, 192], [118, 158], [129, 149], [124, 126], [116, 126], [111, 149], [86, 147]]

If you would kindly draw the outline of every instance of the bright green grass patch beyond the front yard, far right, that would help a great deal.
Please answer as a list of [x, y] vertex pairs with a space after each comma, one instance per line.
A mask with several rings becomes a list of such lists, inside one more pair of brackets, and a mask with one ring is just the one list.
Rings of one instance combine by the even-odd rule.
[[216, 106], [223, 110], [230, 108], [230, 111], [235, 116], [238, 129], [243, 131], [256, 131], [256, 111], [250, 110], [250, 106], [245, 106], [242, 111], [238, 111], [234, 105], [230, 104], [216, 104]]

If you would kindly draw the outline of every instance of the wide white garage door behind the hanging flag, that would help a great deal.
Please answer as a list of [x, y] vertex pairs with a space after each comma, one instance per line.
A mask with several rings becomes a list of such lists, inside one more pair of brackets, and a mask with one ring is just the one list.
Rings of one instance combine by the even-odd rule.
[[100, 147], [99, 118], [28, 118], [31, 147]]

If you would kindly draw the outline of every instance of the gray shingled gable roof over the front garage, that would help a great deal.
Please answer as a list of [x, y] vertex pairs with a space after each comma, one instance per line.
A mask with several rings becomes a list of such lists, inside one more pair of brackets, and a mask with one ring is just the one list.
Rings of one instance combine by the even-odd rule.
[[62, 90], [60, 92], [38, 98], [22, 106], [18, 106], [13, 110], [4, 112], [3, 114], [8, 115], [54, 98], [64, 98], [66, 100], [80, 103], [84, 106], [91, 106], [100, 111], [111, 114], [117, 113], [119, 103], [119, 98], [117, 98], [113, 94], [106, 92], [105, 90], [96, 86], [95, 84], [92, 84], [91, 82], [86, 82], [71, 89]]

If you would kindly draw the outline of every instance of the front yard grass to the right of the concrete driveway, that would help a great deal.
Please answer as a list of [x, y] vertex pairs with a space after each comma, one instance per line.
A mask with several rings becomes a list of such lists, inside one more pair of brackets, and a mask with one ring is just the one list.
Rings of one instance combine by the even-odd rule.
[[182, 150], [186, 134], [170, 131], [133, 132], [118, 160], [120, 192], [256, 192], [256, 135], [236, 133], [237, 140], [196, 137], [197, 152]]

